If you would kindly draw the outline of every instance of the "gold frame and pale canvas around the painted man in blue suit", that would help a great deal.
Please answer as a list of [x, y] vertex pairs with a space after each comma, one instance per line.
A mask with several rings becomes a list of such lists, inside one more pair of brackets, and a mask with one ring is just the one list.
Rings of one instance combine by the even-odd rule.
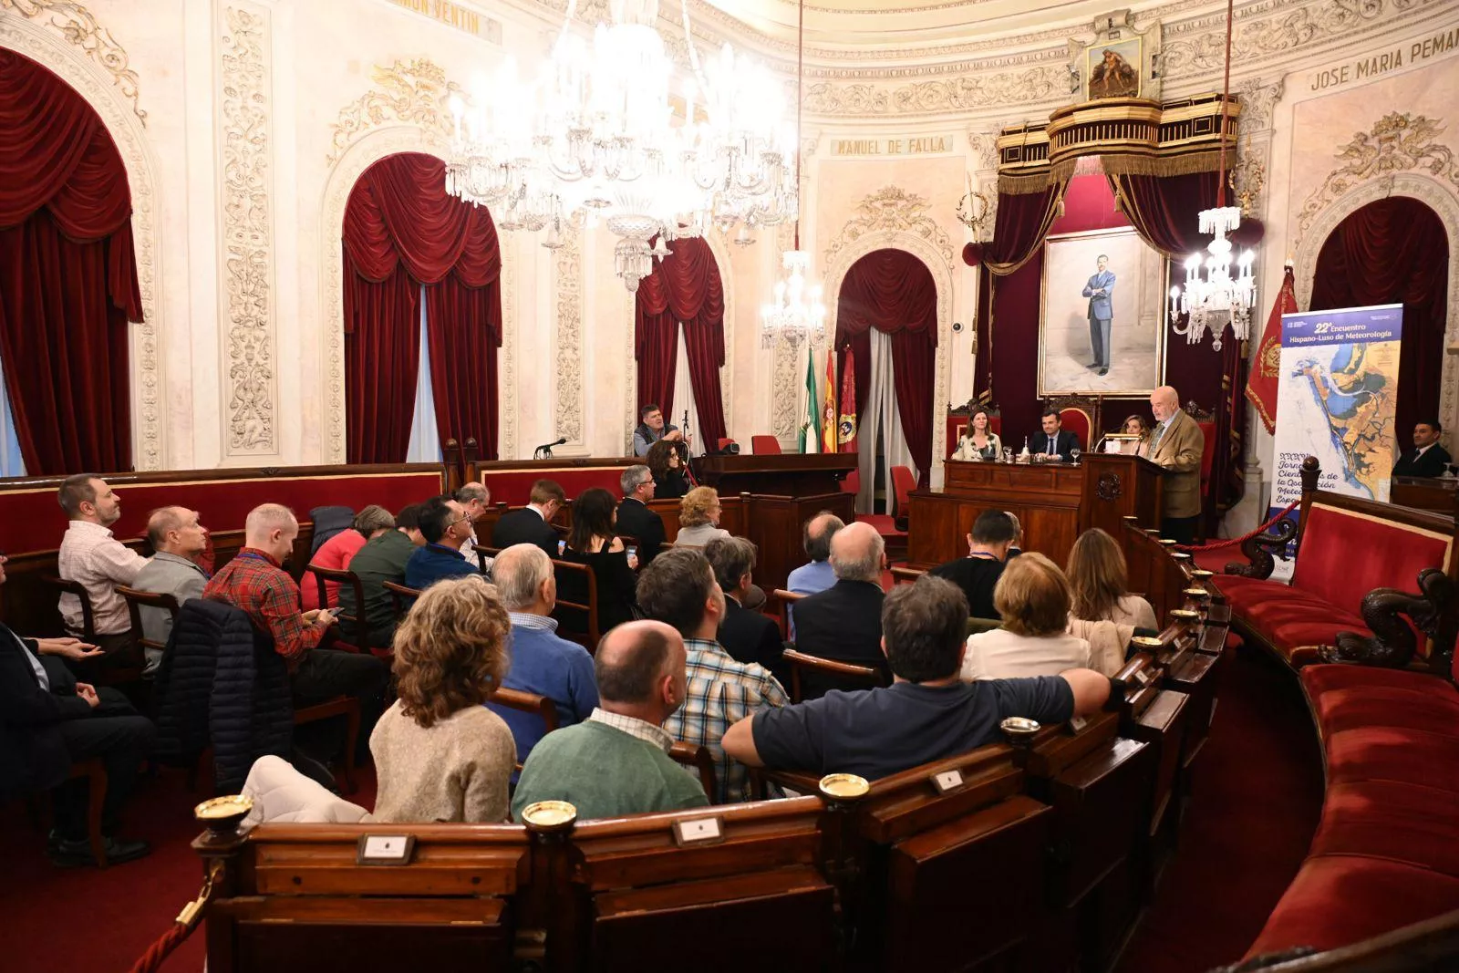
[[[1084, 289], [1107, 257], [1115, 274], [1109, 372], [1099, 375]], [[1039, 397], [1142, 397], [1164, 384], [1167, 261], [1132, 226], [1045, 241], [1039, 295]], [[1103, 343], [1103, 331], [1100, 331]]]

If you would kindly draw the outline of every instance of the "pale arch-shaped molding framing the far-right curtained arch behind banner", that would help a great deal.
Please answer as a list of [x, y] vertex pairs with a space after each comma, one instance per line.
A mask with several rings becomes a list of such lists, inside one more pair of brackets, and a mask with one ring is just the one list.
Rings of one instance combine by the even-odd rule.
[[[1382, 169], [1379, 171], [1382, 172]], [[1439, 214], [1449, 232], [1449, 318], [1444, 322], [1444, 347], [1449, 349], [1449, 353], [1444, 354], [1440, 376], [1439, 414], [1440, 422], [1446, 426], [1453, 423], [1455, 427], [1459, 427], [1459, 354], [1453, 353], [1453, 349], [1459, 346], [1459, 197], [1453, 188], [1452, 166], [1447, 172], [1433, 172], [1431, 169], [1430, 174], [1389, 172], [1370, 178], [1360, 185], [1350, 185], [1341, 197], [1316, 213], [1310, 220], [1310, 232], [1297, 245], [1294, 258], [1297, 305], [1301, 308], [1312, 305], [1317, 254], [1332, 230], [1354, 212], [1390, 195], [1408, 195], [1418, 200]]]

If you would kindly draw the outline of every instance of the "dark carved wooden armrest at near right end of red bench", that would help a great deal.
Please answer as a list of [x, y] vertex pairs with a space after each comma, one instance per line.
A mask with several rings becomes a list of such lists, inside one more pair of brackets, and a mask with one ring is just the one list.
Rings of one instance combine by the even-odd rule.
[[[1449, 575], [1437, 567], [1423, 569], [1417, 595], [1398, 588], [1374, 588], [1363, 597], [1361, 611], [1373, 635], [1339, 632], [1335, 646], [1320, 649], [1325, 661], [1404, 668], [1418, 649], [1417, 627], [1434, 640], [1430, 664], [1440, 674], [1449, 672], [1459, 633], [1459, 604]], [[1409, 626], [1405, 617], [1414, 624]]]

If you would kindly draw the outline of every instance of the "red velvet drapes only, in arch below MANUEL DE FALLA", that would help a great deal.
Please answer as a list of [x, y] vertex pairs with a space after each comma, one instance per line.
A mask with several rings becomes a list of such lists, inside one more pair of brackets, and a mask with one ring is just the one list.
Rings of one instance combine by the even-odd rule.
[[921, 474], [918, 486], [925, 489], [932, 476], [937, 283], [932, 271], [905, 249], [877, 249], [858, 260], [836, 296], [836, 347], [851, 347], [856, 356], [858, 416], [867, 404], [870, 378], [862, 376], [871, 372], [871, 328], [891, 337], [897, 416]]

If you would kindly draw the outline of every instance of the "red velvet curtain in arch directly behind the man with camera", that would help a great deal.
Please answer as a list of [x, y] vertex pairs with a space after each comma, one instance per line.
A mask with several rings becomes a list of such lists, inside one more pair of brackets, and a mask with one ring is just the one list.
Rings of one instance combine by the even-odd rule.
[[[670, 255], [639, 282], [633, 311], [633, 357], [638, 359], [639, 406], [673, 408], [678, 356], [678, 324], [684, 325], [689, 382], [699, 411], [700, 442], [725, 435], [725, 292], [709, 244], [699, 238], [668, 244]], [[667, 419], [673, 422], [673, 419]]]

